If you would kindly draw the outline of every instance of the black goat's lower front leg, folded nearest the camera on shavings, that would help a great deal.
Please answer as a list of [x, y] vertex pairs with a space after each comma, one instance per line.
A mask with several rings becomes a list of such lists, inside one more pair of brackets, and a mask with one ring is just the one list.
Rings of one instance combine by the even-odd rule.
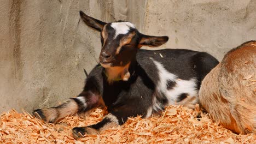
[[97, 124], [93, 124], [88, 127], [73, 128], [73, 137], [74, 139], [79, 139], [85, 134], [97, 135], [106, 129], [124, 124], [128, 117], [145, 115], [145, 113], [146, 111], [144, 111], [143, 108], [139, 109], [138, 106], [136, 107], [135, 105], [123, 105], [110, 111], [109, 114], [106, 115], [103, 120]]

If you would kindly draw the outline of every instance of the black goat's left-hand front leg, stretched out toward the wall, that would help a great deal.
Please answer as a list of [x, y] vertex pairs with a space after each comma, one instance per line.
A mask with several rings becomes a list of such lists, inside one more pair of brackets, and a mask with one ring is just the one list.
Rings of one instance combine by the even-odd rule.
[[33, 115], [45, 122], [55, 123], [68, 115], [84, 113], [100, 105], [103, 105], [100, 94], [84, 91], [78, 97], [69, 98], [59, 106], [34, 110]]

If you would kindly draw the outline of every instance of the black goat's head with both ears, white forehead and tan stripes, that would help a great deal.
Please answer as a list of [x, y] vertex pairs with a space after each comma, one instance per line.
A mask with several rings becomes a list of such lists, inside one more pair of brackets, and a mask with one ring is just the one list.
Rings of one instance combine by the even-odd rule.
[[143, 45], [156, 47], [165, 44], [167, 36], [155, 37], [141, 34], [130, 22], [106, 23], [80, 11], [80, 16], [89, 27], [101, 32], [100, 63], [102, 67], [124, 67], [135, 58]]

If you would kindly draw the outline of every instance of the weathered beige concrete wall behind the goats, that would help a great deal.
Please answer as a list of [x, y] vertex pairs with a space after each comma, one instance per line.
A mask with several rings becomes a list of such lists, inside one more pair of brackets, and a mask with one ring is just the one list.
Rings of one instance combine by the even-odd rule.
[[100, 35], [79, 10], [110, 22], [135, 23], [145, 34], [168, 35], [163, 48], [226, 51], [256, 39], [256, 0], [10, 0], [0, 1], [0, 112], [31, 112], [82, 91], [97, 63]]

